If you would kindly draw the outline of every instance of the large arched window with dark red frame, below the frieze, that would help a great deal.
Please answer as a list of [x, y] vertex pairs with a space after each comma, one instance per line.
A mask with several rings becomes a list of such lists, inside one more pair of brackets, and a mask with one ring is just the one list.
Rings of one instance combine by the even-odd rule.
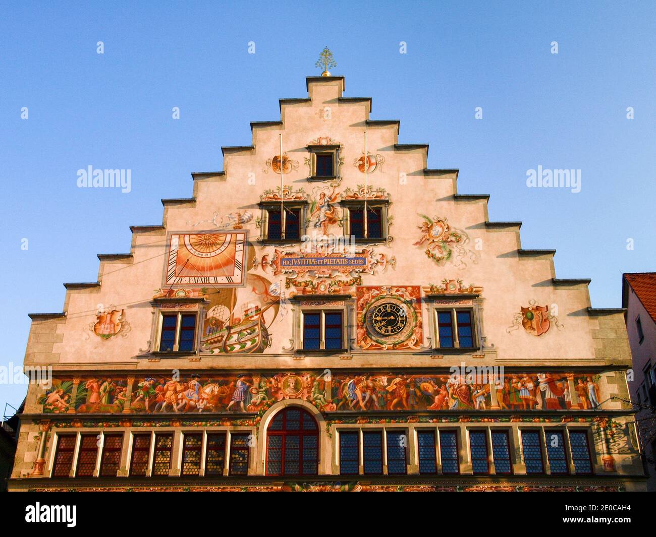
[[319, 428], [310, 412], [284, 408], [266, 429], [266, 475], [317, 475]]

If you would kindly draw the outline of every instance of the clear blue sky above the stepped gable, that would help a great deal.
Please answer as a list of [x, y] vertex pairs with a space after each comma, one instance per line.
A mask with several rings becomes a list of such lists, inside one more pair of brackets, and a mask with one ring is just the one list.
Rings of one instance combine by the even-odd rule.
[[[29, 312], [62, 311], [62, 283], [96, 281], [96, 254], [128, 252], [129, 226], [160, 224], [191, 171], [222, 169], [220, 146], [250, 144], [249, 121], [305, 97], [325, 45], [346, 96], [400, 119], [401, 143], [430, 144], [429, 167], [459, 168], [461, 193], [489, 193], [491, 220], [522, 220], [524, 248], [558, 249], [558, 277], [591, 277], [593, 306], [621, 305], [623, 272], [656, 269], [656, 3], [0, 9], [0, 365], [22, 363]], [[89, 165], [133, 170], [131, 193], [77, 188]], [[526, 188], [539, 165], [581, 169], [581, 192]], [[0, 404], [24, 393], [0, 386]]]

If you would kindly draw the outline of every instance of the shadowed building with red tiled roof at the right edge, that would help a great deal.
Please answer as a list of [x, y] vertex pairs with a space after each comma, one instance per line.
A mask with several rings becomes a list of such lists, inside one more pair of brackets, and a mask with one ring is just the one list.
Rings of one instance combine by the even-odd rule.
[[622, 279], [622, 307], [633, 356], [628, 383], [642, 445], [647, 490], [656, 490], [656, 272], [627, 273]]

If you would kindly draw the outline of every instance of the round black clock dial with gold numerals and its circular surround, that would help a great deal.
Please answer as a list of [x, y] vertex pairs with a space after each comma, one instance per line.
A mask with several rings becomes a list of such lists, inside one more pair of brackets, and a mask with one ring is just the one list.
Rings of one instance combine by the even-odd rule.
[[364, 312], [365, 327], [374, 341], [389, 345], [403, 342], [415, 326], [415, 313], [399, 296], [381, 296]]

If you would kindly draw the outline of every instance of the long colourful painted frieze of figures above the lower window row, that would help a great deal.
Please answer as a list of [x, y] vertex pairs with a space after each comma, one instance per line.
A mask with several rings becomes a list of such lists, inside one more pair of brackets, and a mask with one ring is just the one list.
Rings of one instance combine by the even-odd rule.
[[[600, 380], [592, 372], [320, 371], [56, 378], [37, 403], [47, 414], [158, 414], [257, 412], [279, 401], [307, 401], [321, 412], [375, 410], [508, 410], [521, 412], [600, 410]], [[131, 392], [128, 392], [131, 388]], [[128, 395], [129, 393], [129, 395]], [[440, 420], [455, 420], [459, 414]], [[387, 419], [387, 418], [386, 418]], [[401, 422], [407, 421], [400, 416]], [[429, 421], [432, 418], [429, 418]], [[528, 418], [529, 421], [535, 418]]]

